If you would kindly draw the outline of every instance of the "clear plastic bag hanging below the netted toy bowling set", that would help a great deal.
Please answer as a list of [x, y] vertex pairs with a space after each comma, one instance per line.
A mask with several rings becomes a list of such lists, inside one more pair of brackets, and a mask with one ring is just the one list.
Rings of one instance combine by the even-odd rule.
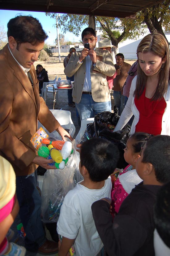
[[75, 151], [64, 169], [45, 172], [41, 192], [42, 219], [45, 223], [57, 222], [65, 195], [82, 179], [79, 172], [79, 155]]

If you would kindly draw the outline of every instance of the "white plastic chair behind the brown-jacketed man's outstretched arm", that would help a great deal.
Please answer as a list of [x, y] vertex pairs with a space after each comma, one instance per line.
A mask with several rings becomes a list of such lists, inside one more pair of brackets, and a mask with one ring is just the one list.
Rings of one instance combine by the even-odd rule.
[[[58, 109], [50, 109], [50, 111], [53, 113], [54, 117], [57, 119], [57, 121], [61, 124], [61, 126], [64, 129], [69, 129], [69, 134], [71, 135], [71, 137], [73, 137], [75, 133], [75, 126], [71, 119], [71, 112], [67, 110], [58, 110]], [[45, 130], [45, 132], [49, 135], [49, 137], [55, 137], [58, 140], [62, 140], [62, 137], [58, 134], [58, 132], [54, 131], [49, 133], [45, 129], [45, 127], [38, 121], [38, 129], [40, 127], [42, 127]], [[37, 176], [37, 185], [41, 190], [42, 190], [43, 178], [44, 176], [39, 176], [39, 175]]]

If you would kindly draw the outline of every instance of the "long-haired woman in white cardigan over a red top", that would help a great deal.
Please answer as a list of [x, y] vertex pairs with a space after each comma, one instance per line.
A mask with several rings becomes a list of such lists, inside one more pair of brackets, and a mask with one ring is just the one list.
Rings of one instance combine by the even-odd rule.
[[130, 95], [114, 131], [121, 130], [134, 115], [130, 133], [170, 135], [170, 59], [166, 38], [148, 34], [137, 48], [138, 71]]

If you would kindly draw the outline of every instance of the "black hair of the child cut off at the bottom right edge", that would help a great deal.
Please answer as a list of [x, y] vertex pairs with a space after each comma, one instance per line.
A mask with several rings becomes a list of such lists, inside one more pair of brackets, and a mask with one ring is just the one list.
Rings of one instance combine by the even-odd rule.
[[157, 193], [154, 221], [160, 238], [170, 248], [170, 182], [164, 184]]

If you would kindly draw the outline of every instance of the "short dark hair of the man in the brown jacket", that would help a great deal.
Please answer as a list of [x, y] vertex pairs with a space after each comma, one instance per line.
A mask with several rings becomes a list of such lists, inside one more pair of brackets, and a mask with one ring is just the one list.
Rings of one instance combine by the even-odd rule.
[[30, 43], [36, 45], [43, 43], [47, 38], [47, 34], [42, 28], [39, 20], [29, 16], [16, 16], [11, 19], [8, 24], [7, 36], [14, 37], [17, 44]]

